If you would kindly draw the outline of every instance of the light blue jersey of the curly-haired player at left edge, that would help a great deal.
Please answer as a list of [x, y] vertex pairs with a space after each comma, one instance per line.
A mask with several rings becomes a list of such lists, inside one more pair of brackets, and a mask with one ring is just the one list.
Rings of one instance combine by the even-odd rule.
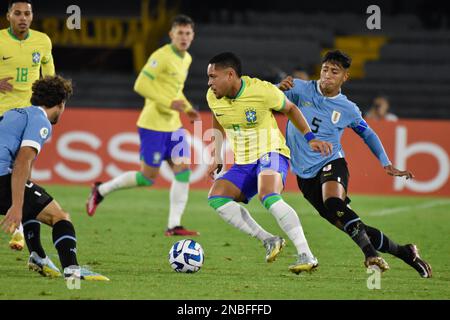
[[21, 147], [33, 147], [37, 153], [52, 134], [52, 125], [41, 107], [12, 109], [0, 117], [0, 176], [12, 172]]

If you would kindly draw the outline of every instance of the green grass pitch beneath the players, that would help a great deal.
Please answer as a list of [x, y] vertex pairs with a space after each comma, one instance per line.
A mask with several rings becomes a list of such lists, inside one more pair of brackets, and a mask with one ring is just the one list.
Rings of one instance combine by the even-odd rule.
[[[29, 271], [28, 252], [8, 248], [0, 235], [0, 299], [449, 299], [450, 200], [436, 198], [353, 196], [352, 207], [363, 220], [400, 243], [413, 242], [433, 267], [433, 278], [422, 279], [399, 259], [384, 254], [391, 270], [382, 275], [381, 289], [369, 290], [363, 255], [347, 235], [328, 224], [299, 193], [284, 194], [299, 213], [320, 266], [294, 275], [288, 266], [295, 249], [288, 246], [267, 264], [265, 250], [254, 238], [225, 223], [207, 205], [206, 191], [190, 193], [183, 224], [201, 232], [205, 263], [196, 274], [178, 274], [168, 252], [179, 237], [165, 237], [167, 190], [132, 189], [116, 192], [94, 217], [84, 212], [87, 187], [49, 186], [47, 190], [71, 213], [78, 238], [80, 264], [111, 281], [82, 282], [69, 290], [62, 279]], [[275, 219], [254, 199], [254, 218], [283, 235]], [[59, 266], [51, 229], [42, 226], [42, 243]]]

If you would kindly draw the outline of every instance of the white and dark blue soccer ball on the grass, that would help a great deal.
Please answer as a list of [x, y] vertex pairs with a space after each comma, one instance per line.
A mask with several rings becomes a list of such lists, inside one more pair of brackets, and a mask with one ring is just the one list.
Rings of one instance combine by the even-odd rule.
[[203, 265], [203, 248], [191, 239], [176, 242], [169, 251], [169, 263], [176, 272], [194, 273]]

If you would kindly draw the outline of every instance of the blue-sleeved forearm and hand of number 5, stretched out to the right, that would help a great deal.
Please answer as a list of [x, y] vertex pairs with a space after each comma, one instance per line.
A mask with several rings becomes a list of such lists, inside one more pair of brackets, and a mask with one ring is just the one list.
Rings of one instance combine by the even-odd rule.
[[395, 168], [389, 160], [386, 151], [380, 138], [372, 128], [369, 127], [364, 119], [360, 119], [357, 123], [351, 126], [353, 131], [357, 133], [365, 144], [369, 147], [370, 151], [378, 158], [386, 173], [395, 177], [406, 177], [406, 179], [414, 178], [414, 175], [409, 170], [399, 170]]

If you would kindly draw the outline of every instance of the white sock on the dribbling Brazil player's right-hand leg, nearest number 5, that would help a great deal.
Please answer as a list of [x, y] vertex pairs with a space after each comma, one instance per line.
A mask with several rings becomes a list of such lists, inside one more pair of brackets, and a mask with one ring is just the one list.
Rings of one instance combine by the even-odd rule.
[[303, 233], [302, 225], [297, 213], [283, 199], [278, 200], [269, 208], [270, 213], [277, 219], [281, 229], [288, 235], [289, 239], [297, 248], [298, 254], [306, 253], [313, 257]]

